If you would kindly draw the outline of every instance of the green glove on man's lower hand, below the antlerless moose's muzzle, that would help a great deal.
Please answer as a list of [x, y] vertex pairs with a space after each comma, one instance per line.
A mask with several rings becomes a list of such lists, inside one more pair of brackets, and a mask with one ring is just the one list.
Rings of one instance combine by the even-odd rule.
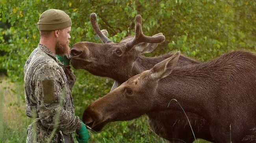
[[84, 123], [82, 123], [82, 127], [80, 129], [76, 129], [76, 134], [78, 135], [76, 136], [78, 143], [88, 143], [90, 136]]

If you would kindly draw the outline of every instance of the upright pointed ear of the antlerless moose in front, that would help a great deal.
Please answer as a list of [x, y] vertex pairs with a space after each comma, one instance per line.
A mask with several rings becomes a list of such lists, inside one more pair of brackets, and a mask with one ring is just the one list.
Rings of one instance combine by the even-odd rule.
[[161, 78], [165, 78], [166, 76], [169, 76], [169, 74], [171, 74], [171, 72], [173, 71], [176, 63], [178, 62], [179, 57], [180, 51], [178, 51], [170, 58], [167, 58], [162, 62], [154, 65], [154, 67], [150, 69], [149, 72], [150, 78], [152, 78], [153, 80], [158, 80]]

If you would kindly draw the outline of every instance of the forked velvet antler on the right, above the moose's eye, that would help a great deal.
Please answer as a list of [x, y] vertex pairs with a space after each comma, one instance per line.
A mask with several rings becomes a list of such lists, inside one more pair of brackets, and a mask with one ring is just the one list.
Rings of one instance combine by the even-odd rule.
[[126, 47], [128, 49], [131, 49], [134, 47], [134, 45], [141, 43], [141, 42], [147, 42], [147, 43], [162, 43], [165, 41], [165, 36], [163, 35], [158, 35], [158, 36], [145, 36], [142, 32], [141, 29], [141, 24], [142, 24], [142, 18], [141, 15], [137, 15], [135, 17], [135, 36], [134, 38], [126, 43]]

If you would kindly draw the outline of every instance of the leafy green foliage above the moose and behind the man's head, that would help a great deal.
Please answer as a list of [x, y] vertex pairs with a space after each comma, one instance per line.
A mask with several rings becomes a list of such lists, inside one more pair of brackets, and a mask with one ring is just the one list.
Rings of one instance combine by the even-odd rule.
[[[89, 14], [98, 14], [101, 29], [119, 42], [134, 34], [134, 17], [143, 17], [147, 35], [162, 32], [165, 43], [152, 54], [180, 50], [201, 61], [215, 58], [233, 49], [255, 50], [256, 2], [242, 1], [87, 1], [11, 0], [0, 5], [0, 69], [13, 80], [22, 80], [24, 62], [39, 42], [37, 22], [43, 11], [61, 9], [72, 19], [71, 42], [100, 42], [89, 22]], [[8, 27], [6, 27], [8, 25]], [[71, 43], [71, 44], [72, 44]]]

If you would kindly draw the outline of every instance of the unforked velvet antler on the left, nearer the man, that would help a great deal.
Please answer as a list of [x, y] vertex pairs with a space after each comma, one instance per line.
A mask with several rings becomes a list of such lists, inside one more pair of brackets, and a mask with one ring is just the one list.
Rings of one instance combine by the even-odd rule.
[[106, 37], [99, 28], [98, 22], [97, 22], [97, 15], [95, 13], [90, 14], [90, 20], [91, 20], [91, 25], [93, 26], [94, 31], [98, 36], [100, 37], [100, 40], [103, 43], [114, 43], [113, 41], [109, 40], [108, 37]]

